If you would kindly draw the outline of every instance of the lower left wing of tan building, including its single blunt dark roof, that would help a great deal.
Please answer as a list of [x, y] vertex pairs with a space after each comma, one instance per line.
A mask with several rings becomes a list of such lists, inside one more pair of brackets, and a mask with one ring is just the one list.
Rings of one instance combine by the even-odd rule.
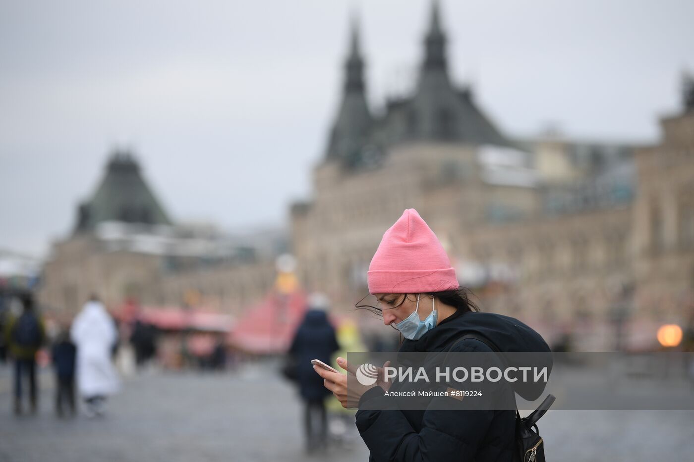
[[238, 313], [272, 286], [285, 233], [225, 234], [174, 223], [126, 152], [110, 157], [96, 192], [78, 207], [74, 231], [53, 244], [39, 300], [70, 316], [91, 293], [111, 309], [126, 300]]

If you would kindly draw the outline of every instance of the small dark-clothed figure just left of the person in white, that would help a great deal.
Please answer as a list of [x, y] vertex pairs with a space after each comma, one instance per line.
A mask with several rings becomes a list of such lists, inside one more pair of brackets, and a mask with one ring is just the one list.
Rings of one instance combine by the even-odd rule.
[[64, 415], [63, 408], [69, 407], [75, 416], [75, 359], [77, 348], [70, 341], [69, 330], [62, 330], [51, 348], [53, 368], [56, 370], [56, 413]]

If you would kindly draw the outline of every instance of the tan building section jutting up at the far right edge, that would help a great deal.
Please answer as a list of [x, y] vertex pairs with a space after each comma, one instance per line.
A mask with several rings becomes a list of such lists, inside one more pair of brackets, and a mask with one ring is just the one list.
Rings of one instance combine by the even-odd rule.
[[636, 306], [651, 316], [694, 304], [694, 78], [684, 78], [683, 103], [681, 114], [661, 119], [661, 142], [636, 151]]

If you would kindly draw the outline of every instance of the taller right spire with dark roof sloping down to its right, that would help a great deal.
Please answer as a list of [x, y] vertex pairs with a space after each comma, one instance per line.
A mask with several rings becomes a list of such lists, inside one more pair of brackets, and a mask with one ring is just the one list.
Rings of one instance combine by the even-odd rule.
[[409, 137], [507, 145], [505, 137], [473, 103], [469, 89], [455, 89], [450, 82], [446, 33], [437, 0], [432, 1], [430, 18], [416, 94], [407, 114]]

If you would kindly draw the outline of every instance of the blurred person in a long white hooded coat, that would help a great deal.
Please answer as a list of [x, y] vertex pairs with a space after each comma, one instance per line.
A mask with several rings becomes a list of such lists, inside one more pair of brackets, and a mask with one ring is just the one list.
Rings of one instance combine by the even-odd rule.
[[75, 318], [70, 336], [77, 346], [77, 386], [87, 404], [87, 416], [103, 415], [106, 397], [120, 386], [111, 361], [118, 332], [96, 296], [85, 303]]

